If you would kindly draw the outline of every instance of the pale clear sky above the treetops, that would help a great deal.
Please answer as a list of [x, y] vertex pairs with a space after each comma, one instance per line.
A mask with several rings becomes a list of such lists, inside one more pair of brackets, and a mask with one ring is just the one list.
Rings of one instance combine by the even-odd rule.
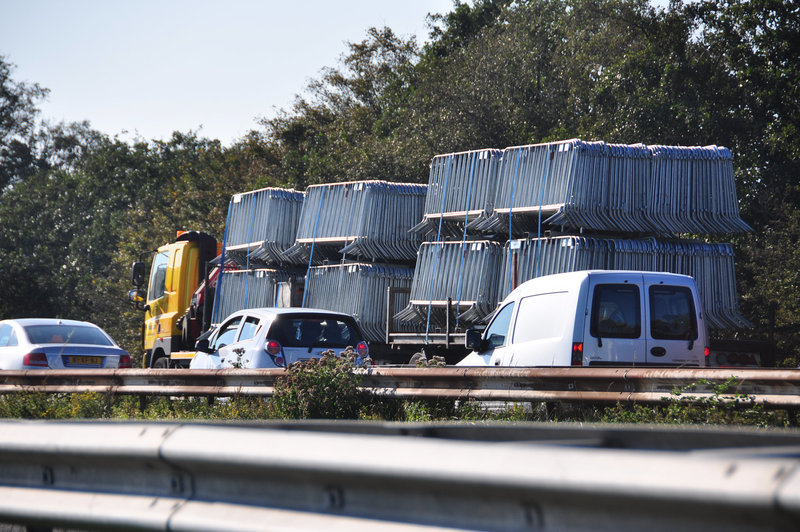
[[0, 0], [0, 55], [51, 123], [230, 145], [289, 109], [372, 26], [427, 39], [452, 0]]

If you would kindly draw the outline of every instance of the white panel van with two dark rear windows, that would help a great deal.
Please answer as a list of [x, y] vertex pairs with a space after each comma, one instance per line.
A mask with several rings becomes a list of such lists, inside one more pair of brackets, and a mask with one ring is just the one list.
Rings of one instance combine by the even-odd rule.
[[531, 279], [498, 307], [459, 366], [706, 366], [694, 279], [578, 271]]

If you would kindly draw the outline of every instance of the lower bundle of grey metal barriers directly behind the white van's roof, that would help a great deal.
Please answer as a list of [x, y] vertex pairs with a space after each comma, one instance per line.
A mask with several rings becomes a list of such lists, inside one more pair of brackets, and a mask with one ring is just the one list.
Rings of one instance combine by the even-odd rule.
[[730, 244], [559, 236], [512, 240], [505, 246], [499, 299], [542, 275], [577, 270], [642, 270], [690, 275], [713, 328], [749, 325], [736, 303]]

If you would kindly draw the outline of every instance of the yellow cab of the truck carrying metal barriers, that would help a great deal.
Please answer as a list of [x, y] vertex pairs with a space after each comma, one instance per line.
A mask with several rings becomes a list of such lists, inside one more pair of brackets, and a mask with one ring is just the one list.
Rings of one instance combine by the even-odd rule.
[[[170, 244], [153, 256], [147, 290], [143, 262], [135, 262], [129, 299], [144, 310], [143, 367], [168, 368], [176, 365], [179, 353], [193, 348], [184, 317], [197, 287], [208, 275], [207, 264], [217, 255], [216, 240], [197, 231], [179, 231]], [[187, 353], [187, 363], [194, 352]]]

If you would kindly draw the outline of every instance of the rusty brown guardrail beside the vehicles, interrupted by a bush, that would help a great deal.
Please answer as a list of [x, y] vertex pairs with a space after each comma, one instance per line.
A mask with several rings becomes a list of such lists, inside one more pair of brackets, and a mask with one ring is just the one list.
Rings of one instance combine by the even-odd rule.
[[[284, 370], [54, 370], [0, 372], [0, 394], [84, 391], [161, 396], [270, 396]], [[681, 368], [411, 368], [364, 371], [361, 386], [399, 398], [656, 403], [734, 401], [800, 407], [800, 371]], [[723, 393], [716, 389], [724, 387]], [[676, 395], [676, 390], [681, 395]]]

